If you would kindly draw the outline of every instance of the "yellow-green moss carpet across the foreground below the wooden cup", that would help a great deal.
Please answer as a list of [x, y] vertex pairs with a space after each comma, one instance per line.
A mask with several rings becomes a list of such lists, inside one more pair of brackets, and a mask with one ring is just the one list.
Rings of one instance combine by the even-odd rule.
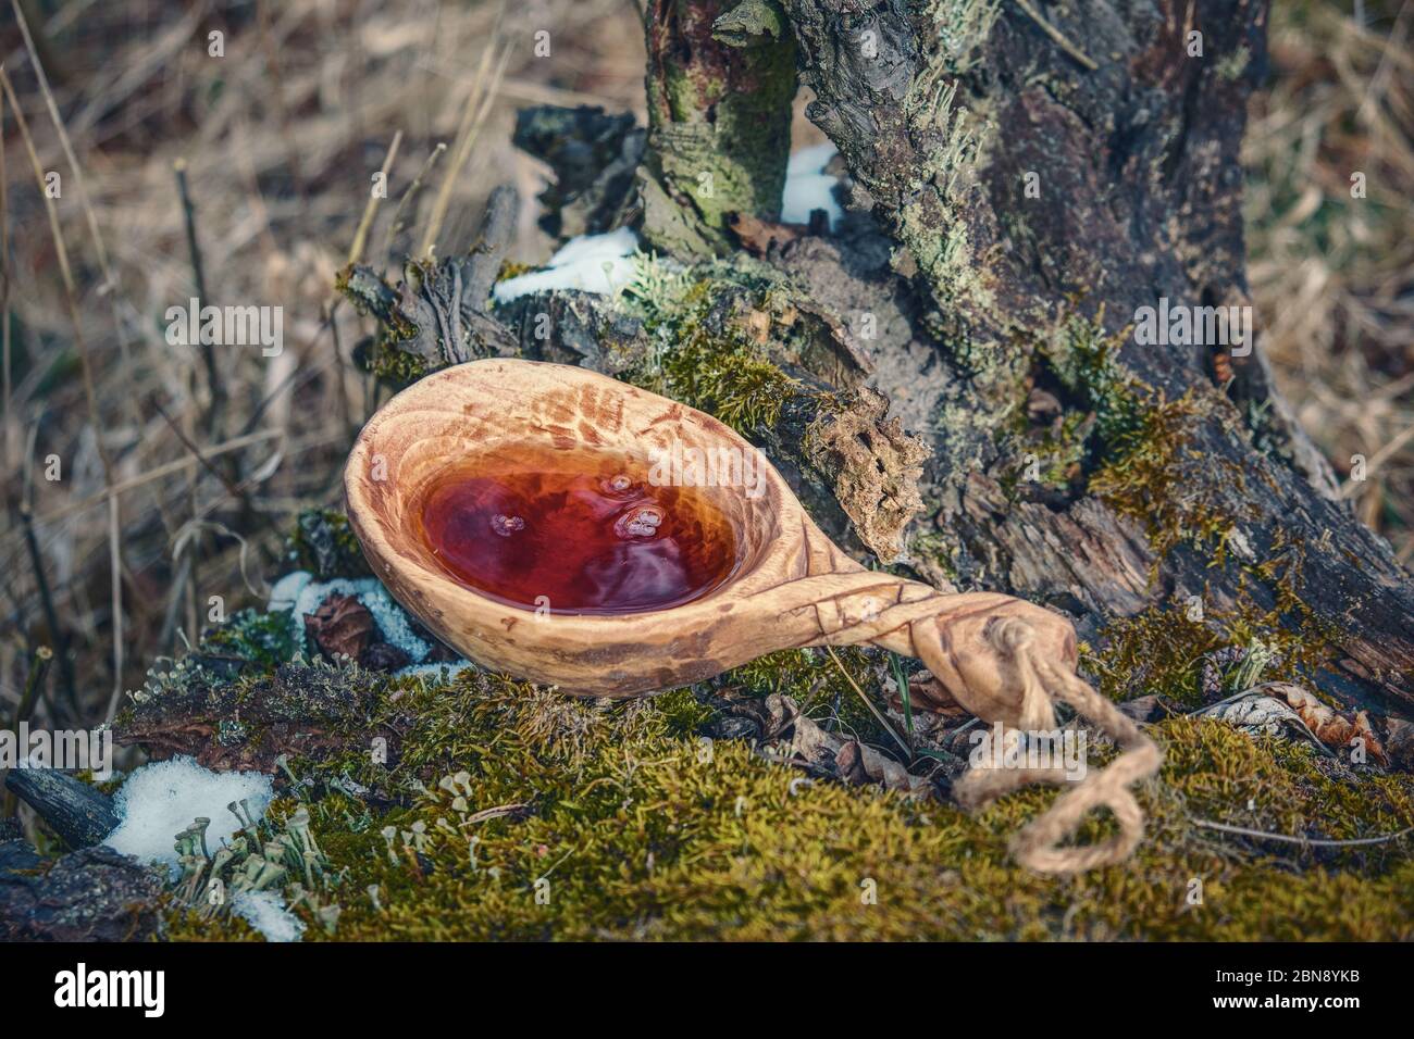
[[[680, 707], [461, 683], [455, 708], [443, 704], [428, 727], [447, 735], [455, 718], [445, 782], [370, 818], [344, 794], [310, 804], [339, 878], [324, 898], [341, 913], [331, 933], [301, 905], [305, 940], [1414, 937], [1401, 843], [1321, 851], [1193, 821], [1336, 840], [1390, 833], [1414, 823], [1407, 776], [1357, 776], [1301, 746], [1171, 720], [1157, 727], [1162, 780], [1141, 790], [1150, 826], [1138, 854], [1046, 878], [1017, 868], [1005, 847], [1053, 792], [967, 816], [872, 787], [793, 787], [802, 773], [744, 742], [703, 753], [674, 732]], [[1107, 826], [1090, 820], [1083, 837]], [[1195, 881], [1200, 905], [1189, 900]], [[238, 922], [180, 919], [171, 933], [247, 936]]]

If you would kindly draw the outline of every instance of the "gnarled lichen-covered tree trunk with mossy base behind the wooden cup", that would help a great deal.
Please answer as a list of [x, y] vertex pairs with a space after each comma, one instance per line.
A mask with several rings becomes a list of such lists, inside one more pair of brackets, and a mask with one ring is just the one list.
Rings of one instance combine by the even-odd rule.
[[[590, 112], [551, 120], [587, 127], [614, 155], [598, 177], [568, 164], [584, 148], [539, 140], [534, 119], [522, 137], [556, 165], [560, 201], [585, 228], [636, 209], [660, 252], [764, 257], [740, 257], [734, 274], [694, 269], [725, 286], [703, 331], [740, 344], [744, 322], [810, 387], [806, 434], [786, 403], [752, 435], [812, 516], [884, 563], [925, 517], [918, 573], [1060, 609], [1117, 653], [1110, 679], [1131, 695], [1158, 656], [1196, 670], [1237, 646], [1281, 659], [1285, 673], [1268, 676], [1414, 714], [1414, 585], [1336, 498], [1273, 389], [1260, 329], [1240, 321], [1239, 146], [1266, 68], [1264, 3], [724, 8], [648, 7], [636, 208], [622, 175], [639, 147], [631, 127]], [[829, 236], [769, 223], [790, 55], [816, 96], [807, 116], [848, 165], [854, 208], [872, 212]], [[708, 198], [694, 191], [701, 172], [714, 174]], [[756, 233], [732, 215], [755, 216]], [[376, 311], [390, 293], [365, 303]], [[519, 304], [522, 317], [566, 308], [580, 317], [551, 321], [551, 341], [527, 332], [539, 321], [506, 335], [526, 356], [614, 375], [600, 356], [609, 346], [646, 349], [607, 297]], [[1237, 319], [1209, 325], [1217, 310]], [[424, 353], [436, 353], [434, 322], [399, 312], [397, 329], [431, 329]], [[865, 379], [930, 448], [922, 479]], [[819, 406], [836, 397], [855, 414], [824, 427]], [[870, 530], [870, 516], [887, 523]]]

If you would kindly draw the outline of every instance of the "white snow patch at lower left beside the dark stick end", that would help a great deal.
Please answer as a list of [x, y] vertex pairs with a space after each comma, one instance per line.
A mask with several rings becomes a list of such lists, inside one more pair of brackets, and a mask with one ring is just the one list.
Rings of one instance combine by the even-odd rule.
[[273, 797], [270, 776], [260, 772], [212, 772], [195, 758], [171, 758], [134, 769], [113, 799], [119, 824], [103, 844], [144, 862], [165, 862], [177, 871], [175, 837], [192, 820], [211, 820], [206, 848], [215, 851], [240, 821], [226, 809], [246, 800], [259, 820]]

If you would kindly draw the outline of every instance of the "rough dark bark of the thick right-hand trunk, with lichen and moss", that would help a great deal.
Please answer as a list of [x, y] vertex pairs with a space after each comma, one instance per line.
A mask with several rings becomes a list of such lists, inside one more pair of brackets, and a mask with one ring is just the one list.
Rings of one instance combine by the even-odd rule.
[[[786, 8], [817, 96], [807, 115], [911, 254], [895, 266], [925, 301], [930, 360], [954, 394], [933, 416], [933, 476], [959, 573], [1079, 614], [1082, 630], [1191, 595], [1277, 611], [1321, 629], [1329, 691], [1408, 712], [1414, 588], [1324, 493], [1257, 355], [1143, 345], [1127, 328], [1161, 298], [1249, 303], [1237, 148], [1266, 65], [1266, 6], [1046, 8], [1087, 55], [1011, 4], [950, 48], [933, 16], [962, 4]], [[1205, 57], [1189, 55], [1189, 31]], [[1065, 385], [1076, 322], [1109, 344], [1089, 400]], [[1096, 375], [1126, 387], [1145, 431], [1083, 438], [1080, 479], [1063, 488], [1018, 481], [1008, 444], [1035, 424], [1038, 393], [1042, 411], [1099, 413], [1103, 425]], [[1145, 451], [1147, 483], [1134, 466], [1104, 472]]]

